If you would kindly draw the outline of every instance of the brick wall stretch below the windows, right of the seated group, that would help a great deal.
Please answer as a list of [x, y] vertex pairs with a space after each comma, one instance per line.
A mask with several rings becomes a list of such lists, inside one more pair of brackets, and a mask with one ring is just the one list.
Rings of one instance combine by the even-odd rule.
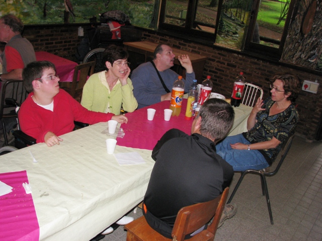
[[[271, 64], [252, 57], [228, 51], [207, 47], [200, 44], [188, 43], [187, 41], [174, 39], [165, 35], [158, 35], [151, 31], [144, 32], [142, 40], [154, 43], [166, 43], [174, 48], [191, 51], [202, 56], [207, 56], [203, 71], [203, 79], [207, 75], [211, 76], [214, 83], [213, 92], [221, 93], [226, 97], [231, 96], [232, 86], [235, 76], [244, 72], [247, 82], [256, 84], [263, 88], [264, 98], [270, 94], [269, 78], [276, 73], [291, 72], [296, 74], [301, 80], [317, 80], [322, 83], [322, 77], [309, 74], [300, 70], [283, 67], [282, 65]], [[200, 80], [198, 80], [200, 81]], [[296, 100], [300, 121], [296, 128], [296, 134], [314, 140], [321, 118], [322, 112], [322, 88], [318, 88], [317, 94], [300, 91]]]

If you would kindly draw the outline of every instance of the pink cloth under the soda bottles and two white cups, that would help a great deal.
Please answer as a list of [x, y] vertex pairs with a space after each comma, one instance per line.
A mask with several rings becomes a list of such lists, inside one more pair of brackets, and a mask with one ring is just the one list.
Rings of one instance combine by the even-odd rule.
[[[171, 116], [169, 122], [164, 119], [164, 109], [169, 108], [170, 101], [162, 101], [148, 107], [126, 113], [127, 124], [122, 124], [125, 133], [124, 138], [117, 139], [117, 145], [139, 149], [152, 150], [158, 140], [170, 129], [176, 128], [187, 134], [191, 134], [192, 119], [185, 119], [187, 99], [183, 99], [179, 116]], [[156, 109], [153, 121], [147, 120], [147, 108]]]

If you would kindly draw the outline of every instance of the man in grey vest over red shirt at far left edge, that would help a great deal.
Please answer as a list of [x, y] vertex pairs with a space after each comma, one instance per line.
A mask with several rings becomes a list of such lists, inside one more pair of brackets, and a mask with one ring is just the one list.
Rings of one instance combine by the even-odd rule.
[[0, 18], [0, 42], [7, 43], [0, 52], [3, 65], [1, 80], [22, 80], [22, 71], [32, 61], [36, 61], [32, 44], [21, 36], [24, 29], [22, 21], [8, 14]]

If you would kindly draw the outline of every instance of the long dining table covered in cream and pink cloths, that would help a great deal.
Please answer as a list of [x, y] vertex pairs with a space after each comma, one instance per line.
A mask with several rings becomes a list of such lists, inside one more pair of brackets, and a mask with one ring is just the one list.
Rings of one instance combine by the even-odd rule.
[[[191, 133], [186, 101], [169, 122], [164, 109], [170, 101], [163, 101], [126, 113], [128, 122], [118, 125], [116, 134], [108, 133], [107, 123], [98, 123], [60, 136], [59, 145], [38, 143], [0, 156], [0, 181], [13, 187], [0, 196], [0, 240], [90, 240], [128, 213], [143, 200], [157, 141], [172, 128]], [[147, 108], [156, 109], [152, 121]], [[245, 130], [252, 110], [233, 108], [230, 134]], [[108, 138], [117, 140], [114, 154], [107, 153]], [[118, 154], [139, 155], [144, 163], [121, 165]]]

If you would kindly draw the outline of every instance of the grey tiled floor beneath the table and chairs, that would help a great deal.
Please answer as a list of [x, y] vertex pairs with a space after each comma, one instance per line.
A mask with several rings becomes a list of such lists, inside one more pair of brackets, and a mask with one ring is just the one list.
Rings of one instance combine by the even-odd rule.
[[[248, 174], [232, 202], [238, 206], [234, 217], [217, 230], [221, 240], [322, 240], [322, 143], [307, 143], [295, 137], [279, 173], [267, 178], [274, 225], [271, 225], [260, 178]], [[230, 186], [235, 186], [236, 173]], [[141, 215], [139, 209], [136, 214]], [[125, 241], [119, 227], [103, 241]], [[152, 240], [151, 240], [152, 241]]]

